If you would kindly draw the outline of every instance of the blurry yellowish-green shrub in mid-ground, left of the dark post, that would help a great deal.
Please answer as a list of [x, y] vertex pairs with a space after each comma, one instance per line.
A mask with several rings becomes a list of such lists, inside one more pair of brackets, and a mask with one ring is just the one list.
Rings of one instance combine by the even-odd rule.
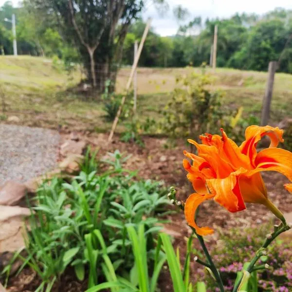
[[210, 89], [211, 76], [192, 72], [176, 79], [171, 100], [163, 110], [162, 128], [169, 138], [197, 137], [220, 128], [223, 93]]

